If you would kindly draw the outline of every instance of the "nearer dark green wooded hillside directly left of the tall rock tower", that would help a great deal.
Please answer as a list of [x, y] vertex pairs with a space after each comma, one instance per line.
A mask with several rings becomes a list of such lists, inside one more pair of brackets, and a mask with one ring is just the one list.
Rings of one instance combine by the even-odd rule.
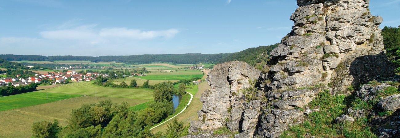
[[268, 46], [259, 46], [254, 48], [248, 48], [238, 53], [233, 53], [227, 57], [224, 57], [218, 61], [218, 63], [224, 63], [227, 61], [244, 61], [250, 65], [256, 65], [268, 59], [270, 52], [279, 45], [279, 43]]

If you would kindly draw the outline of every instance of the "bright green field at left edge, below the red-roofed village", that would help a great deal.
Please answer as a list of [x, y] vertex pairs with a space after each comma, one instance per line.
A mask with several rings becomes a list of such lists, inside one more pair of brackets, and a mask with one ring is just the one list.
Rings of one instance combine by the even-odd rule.
[[51, 103], [54, 101], [60, 101], [64, 99], [70, 99], [81, 96], [83, 95], [30, 92], [30, 93], [22, 93], [19, 95], [0, 97], [0, 111], [16, 109], [26, 106], [33, 106], [44, 103]]

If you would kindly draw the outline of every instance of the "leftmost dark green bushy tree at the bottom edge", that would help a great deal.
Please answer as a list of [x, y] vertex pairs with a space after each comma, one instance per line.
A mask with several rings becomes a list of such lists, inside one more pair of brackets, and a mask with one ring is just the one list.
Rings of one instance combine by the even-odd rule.
[[39, 121], [32, 125], [32, 133], [35, 138], [56, 138], [57, 132], [61, 129], [58, 126], [58, 120], [54, 119], [54, 122]]

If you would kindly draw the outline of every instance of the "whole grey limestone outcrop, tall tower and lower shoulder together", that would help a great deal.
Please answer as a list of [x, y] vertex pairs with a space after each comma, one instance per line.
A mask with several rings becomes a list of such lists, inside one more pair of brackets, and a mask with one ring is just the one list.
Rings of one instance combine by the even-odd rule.
[[[378, 28], [382, 18], [370, 14], [369, 0], [297, 0], [297, 4], [290, 16], [292, 31], [264, 66], [268, 72], [237, 61], [214, 66], [207, 77], [212, 89], [203, 93], [199, 120], [191, 122], [189, 132], [226, 126], [240, 133], [236, 138], [277, 138], [288, 126], [301, 123], [304, 114], [318, 112], [301, 109], [321, 91], [319, 84], [336, 93], [393, 74]], [[357, 95], [370, 99], [384, 87], [363, 88]], [[390, 107], [386, 103], [382, 107]], [[360, 110], [352, 113], [365, 115]], [[338, 120], [347, 117], [351, 118]]]

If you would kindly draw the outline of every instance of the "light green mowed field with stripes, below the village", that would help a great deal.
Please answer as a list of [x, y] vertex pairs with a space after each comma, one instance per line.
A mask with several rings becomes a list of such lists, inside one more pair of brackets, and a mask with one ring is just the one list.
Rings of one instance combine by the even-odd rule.
[[101, 87], [93, 84], [93, 81], [85, 81], [79, 83], [70, 83], [41, 90], [43, 93], [67, 93], [67, 94], [82, 94], [98, 97], [117, 97], [117, 98], [132, 98], [153, 100], [153, 91], [151, 89], [132, 89], [132, 88], [109, 88]]

